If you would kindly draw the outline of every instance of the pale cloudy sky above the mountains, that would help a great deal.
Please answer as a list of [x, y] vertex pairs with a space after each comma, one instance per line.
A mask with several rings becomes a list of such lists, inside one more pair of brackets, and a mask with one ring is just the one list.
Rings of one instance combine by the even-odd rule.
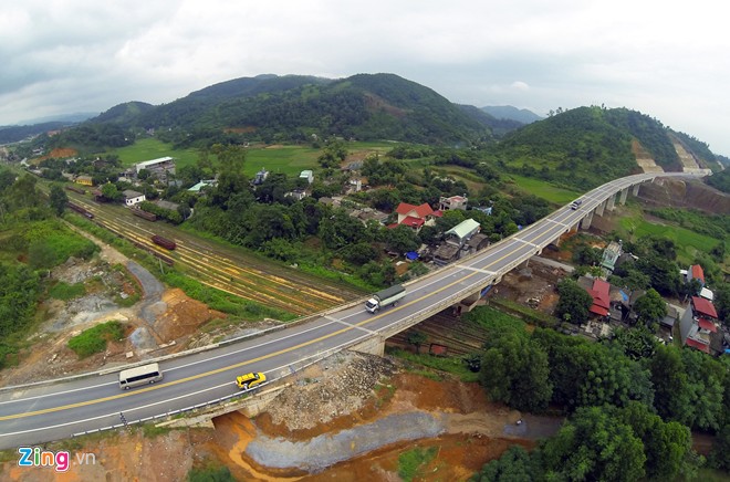
[[479, 107], [628, 107], [730, 155], [717, 0], [2, 3], [0, 125], [262, 73], [389, 72]]

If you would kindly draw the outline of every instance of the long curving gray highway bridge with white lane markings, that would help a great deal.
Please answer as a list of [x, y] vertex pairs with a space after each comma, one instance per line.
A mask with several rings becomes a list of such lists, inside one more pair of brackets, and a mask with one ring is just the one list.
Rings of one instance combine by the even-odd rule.
[[[383, 354], [385, 339], [457, 303], [473, 304], [517, 265], [593, 216], [625, 202], [643, 182], [687, 174], [646, 174], [616, 179], [479, 253], [407, 285], [394, 307], [373, 315], [364, 301], [330, 310], [285, 329], [160, 362], [163, 381], [122, 391], [117, 371], [0, 391], [0, 449], [38, 444], [76, 433], [145, 420], [221, 400], [238, 392], [237, 375], [263, 371], [271, 380], [345, 348]], [[121, 368], [119, 368], [121, 369]]]

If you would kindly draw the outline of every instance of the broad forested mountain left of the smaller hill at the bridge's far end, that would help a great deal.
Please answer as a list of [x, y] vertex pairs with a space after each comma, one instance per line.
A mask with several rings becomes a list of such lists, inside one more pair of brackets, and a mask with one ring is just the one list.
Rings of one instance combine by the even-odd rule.
[[269, 142], [303, 140], [316, 134], [458, 144], [490, 138], [491, 128], [517, 127], [467, 113], [435, 91], [394, 74], [237, 78], [159, 106], [122, 104], [92, 123], [161, 129], [168, 133], [166, 140], [178, 145], [220, 142], [242, 132]]

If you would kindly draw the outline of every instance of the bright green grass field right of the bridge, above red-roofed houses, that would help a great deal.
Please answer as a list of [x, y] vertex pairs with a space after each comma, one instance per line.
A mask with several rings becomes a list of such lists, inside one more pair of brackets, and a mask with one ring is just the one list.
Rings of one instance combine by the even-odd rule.
[[685, 264], [691, 263], [698, 252], [709, 253], [719, 242], [678, 226], [655, 224], [639, 217], [622, 219], [620, 229], [632, 240], [650, 234], [672, 240], [677, 247], [677, 260]]

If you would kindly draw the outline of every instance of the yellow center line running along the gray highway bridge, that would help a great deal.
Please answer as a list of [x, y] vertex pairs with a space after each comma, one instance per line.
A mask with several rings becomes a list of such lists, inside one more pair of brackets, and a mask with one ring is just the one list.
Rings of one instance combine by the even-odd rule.
[[[543, 233], [543, 234], [545, 234], [545, 233]], [[517, 250], [519, 250], [521, 248], [523, 248], [523, 245], [517, 247]], [[512, 254], [517, 250], [512, 250], [512, 251], [508, 252], [507, 254], [502, 255], [501, 258], [498, 258], [497, 260], [494, 260], [491, 263], [487, 264], [484, 266], [484, 269], [489, 268], [493, 264], [497, 264], [498, 262], [502, 261], [504, 258], [509, 256], [510, 254]], [[458, 268], [458, 265], [456, 265], [456, 266]], [[332, 332], [332, 333], [330, 333], [327, 335], [323, 335], [319, 338], [310, 339], [309, 342], [304, 342], [304, 343], [301, 343], [299, 345], [291, 346], [289, 348], [280, 349], [279, 352], [269, 353], [269, 354], [262, 355], [262, 356], [257, 357], [257, 358], [252, 358], [252, 359], [249, 359], [249, 360], [246, 360], [246, 362], [240, 362], [240, 363], [234, 364], [234, 365], [230, 365], [230, 366], [222, 367], [222, 368], [217, 368], [215, 370], [206, 371], [206, 373], [202, 373], [202, 374], [192, 375], [190, 377], [181, 378], [179, 380], [167, 381], [167, 383], [164, 383], [164, 384], [156, 384], [154, 386], [149, 386], [149, 387], [146, 387], [146, 388], [136, 389], [134, 391], [127, 391], [127, 392], [123, 392], [123, 394], [118, 394], [118, 395], [113, 395], [113, 396], [109, 396], [109, 397], [96, 398], [96, 399], [93, 399], [93, 400], [79, 401], [76, 404], [63, 405], [63, 406], [60, 406], [60, 407], [50, 407], [50, 408], [44, 408], [44, 409], [41, 409], [41, 410], [34, 410], [34, 411], [28, 411], [28, 412], [23, 412], [23, 413], [14, 413], [14, 415], [2, 416], [2, 417], [0, 417], [0, 421], [2, 421], [2, 420], [13, 420], [13, 419], [25, 418], [25, 417], [33, 417], [33, 416], [38, 416], [38, 415], [51, 413], [51, 412], [55, 412], [55, 411], [69, 410], [69, 409], [72, 409], [72, 408], [86, 407], [86, 406], [90, 406], [90, 405], [96, 405], [96, 404], [102, 404], [102, 402], [105, 402], [105, 401], [117, 400], [117, 399], [121, 399], [121, 398], [124, 398], [124, 397], [131, 397], [131, 396], [134, 396], [134, 395], [144, 394], [146, 391], [158, 390], [160, 388], [171, 387], [174, 385], [179, 385], [179, 384], [184, 384], [184, 383], [187, 383], [187, 381], [197, 380], [197, 379], [202, 378], [202, 377], [208, 377], [210, 375], [217, 375], [217, 374], [228, 371], [228, 370], [231, 370], [231, 369], [234, 369], [234, 368], [240, 368], [244, 365], [253, 364], [253, 363], [261, 362], [261, 360], [264, 360], [264, 359], [268, 359], [268, 358], [273, 358], [275, 356], [283, 355], [283, 354], [293, 352], [295, 349], [303, 348], [303, 347], [309, 346], [309, 345], [313, 345], [315, 343], [325, 340], [327, 338], [332, 338], [333, 336], [337, 336], [337, 335], [343, 334], [345, 332], [355, 329], [356, 327], [365, 325], [367, 323], [373, 323], [373, 322], [382, 318], [385, 315], [389, 315], [389, 314], [393, 314], [397, 311], [404, 310], [404, 308], [406, 308], [406, 307], [408, 307], [408, 306], [410, 306], [415, 303], [418, 303], [423, 300], [426, 300], [429, 296], [432, 296], [437, 293], [440, 293], [445, 290], [448, 290], [449, 287], [451, 287], [451, 286], [453, 286], [458, 283], [462, 283], [465, 280], [467, 280], [467, 279], [469, 279], [469, 277], [471, 277], [476, 274], [480, 274], [480, 272], [479, 271], [472, 271], [471, 273], [466, 274], [465, 276], [460, 277], [459, 280], [453, 281], [453, 282], [451, 282], [449, 284], [446, 284], [444, 286], [440, 286], [440, 287], [429, 292], [428, 294], [425, 294], [424, 296], [420, 296], [416, 300], [413, 300], [408, 303], [405, 303], [405, 304], [403, 304], [398, 307], [394, 307], [393, 310], [388, 310], [387, 313], [383, 313], [383, 314], [379, 314], [379, 315], [372, 316], [372, 317], [369, 317], [367, 319], [364, 319], [359, 323], [356, 323], [356, 324], [346, 326], [344, 328], [337, 329], [336, 332]], [[231, 381], [231, 384], [232, 384], [232, 381]]]

